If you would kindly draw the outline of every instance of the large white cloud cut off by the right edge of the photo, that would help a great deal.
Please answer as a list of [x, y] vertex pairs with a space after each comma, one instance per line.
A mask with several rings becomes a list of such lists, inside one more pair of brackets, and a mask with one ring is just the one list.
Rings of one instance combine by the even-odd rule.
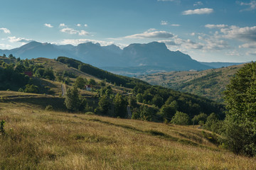
[[220, 32], [224, 34], [224, 38], [256, 42], [256, 26], [243, 28], [230, 26], [230, 28], [222, 28]]

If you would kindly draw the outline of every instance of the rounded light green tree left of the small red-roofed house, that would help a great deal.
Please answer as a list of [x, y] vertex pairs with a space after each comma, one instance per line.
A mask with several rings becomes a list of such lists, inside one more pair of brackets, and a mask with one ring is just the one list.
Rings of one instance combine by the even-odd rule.
[[79, 111], [81, 100], [79, 96], [79, 91], [76, 86], [67, 90], [67, 95], [65, 96], [65, 106], [70, 111]]

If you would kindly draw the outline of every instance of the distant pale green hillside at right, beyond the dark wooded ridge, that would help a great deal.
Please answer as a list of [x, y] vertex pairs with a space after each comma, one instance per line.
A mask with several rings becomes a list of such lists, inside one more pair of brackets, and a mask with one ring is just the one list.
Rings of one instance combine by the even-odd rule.
[[[150, 84], [161, 85], [178, 91], [204, 96], [215, 101], [222, 101], [222, 92], [225, 90], [225, 86], [229, 84], [230, 78], [233, 77], [235, 72], [243, 65], [244, 64], [220, 69], [208, 69], [201, 72], [157, 73], [137, 78]], [[207, 77], [209, 74], [215, 75]], [[214, 81], [214, 83], [210, 84], [210, 80]]]

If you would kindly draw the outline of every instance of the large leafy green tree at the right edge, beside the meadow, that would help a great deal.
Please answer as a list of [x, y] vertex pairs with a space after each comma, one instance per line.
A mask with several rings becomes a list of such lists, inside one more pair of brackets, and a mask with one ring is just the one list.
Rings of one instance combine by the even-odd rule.
[[256, 156], [256, 63], [245, 64], [238, 70], [224, 94], [228, 109], [225, 122], [234, 132], [240, 130], [237, 137], [232, 135], [232, 130], [226, 130], [224, 144], [239, 148], [236, 153]]

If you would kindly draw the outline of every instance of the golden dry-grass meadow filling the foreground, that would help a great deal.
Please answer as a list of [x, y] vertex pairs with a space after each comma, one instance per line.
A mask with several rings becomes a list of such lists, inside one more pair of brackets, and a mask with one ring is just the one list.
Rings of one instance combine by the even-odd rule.
[[0, 169], [256, 169], [192, 127], [1, 103]]

